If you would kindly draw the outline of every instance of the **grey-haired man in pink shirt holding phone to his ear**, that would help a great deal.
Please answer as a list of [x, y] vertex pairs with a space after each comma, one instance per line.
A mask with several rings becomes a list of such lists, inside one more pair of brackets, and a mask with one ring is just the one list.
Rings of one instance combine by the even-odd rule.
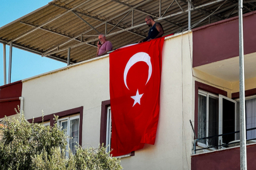
[[99, 42], [97, 43], [96, 57], [107, 54], [107, 52], [113, 50], [112, 43], [107, 41], [104, 34], [99, 35]]

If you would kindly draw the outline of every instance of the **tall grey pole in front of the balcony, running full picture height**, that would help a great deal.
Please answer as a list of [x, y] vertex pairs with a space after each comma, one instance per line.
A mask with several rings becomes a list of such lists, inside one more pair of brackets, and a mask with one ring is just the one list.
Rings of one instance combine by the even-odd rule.
[[239, 11], [239, 73], [240, 73], [240, 169], [247, 169], [247, 145], [245, 129], [245, 69], [243, 57], [243, 0], [238, 2]]

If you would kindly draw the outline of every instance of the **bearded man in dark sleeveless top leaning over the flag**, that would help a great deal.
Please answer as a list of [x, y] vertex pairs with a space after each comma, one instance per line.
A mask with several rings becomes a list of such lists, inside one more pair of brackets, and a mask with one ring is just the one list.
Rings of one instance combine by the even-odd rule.
[[164, 34], [164, 29], [162, 29], [161, 23], [156, 23], [152, 16], [147, 16], [145, 18], [145, 22], [150, 27], [149, 34], [147, 35], [147, 38], [140, 40], [138, 43], [149, 42], [152, 39], [162, 37], [162, 35]]

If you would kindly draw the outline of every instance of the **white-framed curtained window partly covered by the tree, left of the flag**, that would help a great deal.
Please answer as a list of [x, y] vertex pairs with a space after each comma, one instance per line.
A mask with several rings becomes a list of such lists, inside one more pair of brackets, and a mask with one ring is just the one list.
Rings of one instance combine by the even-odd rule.
[[[62, 130], [64, 130], [69, 137], [67, 139], [68, 144], [66, 145], [66, 150], [70, 147], [73, 154], [76, 153], [75, 146], [78, 145], [79, 142], [79, 122], [79, 115], [58, 120], [59, 126], [62, 127]], [[68, 152], [66, 152], [66, 156], [68, 156]]]

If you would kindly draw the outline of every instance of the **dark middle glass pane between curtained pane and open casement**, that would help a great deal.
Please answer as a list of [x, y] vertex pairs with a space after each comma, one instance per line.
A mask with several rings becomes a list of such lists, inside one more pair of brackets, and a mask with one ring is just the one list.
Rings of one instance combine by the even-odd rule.
[[[209, 96], [209, 129], [208, 136], [216, 136], [219, 134], [219, 99]], [[210, 146], [218, 145], [218, 137], [208, 139]]]

